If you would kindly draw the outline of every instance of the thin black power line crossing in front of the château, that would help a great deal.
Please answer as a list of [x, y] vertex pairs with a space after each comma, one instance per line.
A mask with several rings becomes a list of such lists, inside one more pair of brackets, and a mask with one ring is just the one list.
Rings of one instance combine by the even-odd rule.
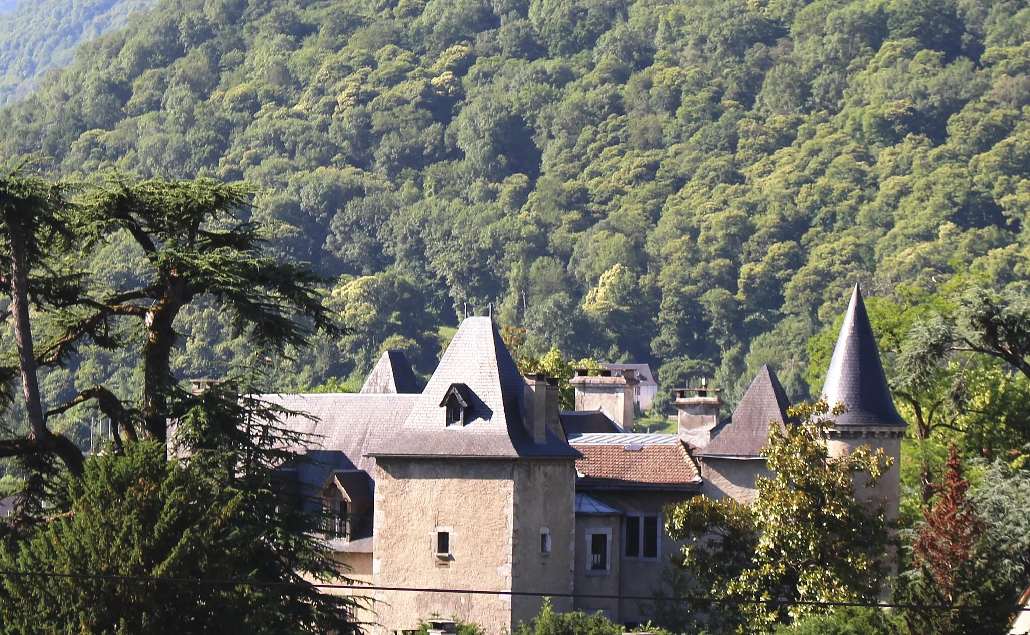
[[602, 600], [645, 600], [649, 602], [693, 602], [696, 604], [767, 604], [771, 606], [864, 606], [870, 608], [903, 608], [909, 610], [960, 610], [960, 611], [1025, 611], [1030, 607], [1023, 605], [1015, 606], [951, 606], [948, 604], [897, 604], [887, 602], [816, 602], [806, 600], [733, 600], [726, 598], [696, 598], [696, 597], [675, 597], [656, 598], [653, 596], [626, 596], [626, 595], [606, 595], [595, 593], [542, 593], [539, 591], [511, 591], [511, 590], [485, 590], [485, 589], [437, 589], [431, 587], [378, 587], [374, 584], [334, 584], [329, 582], [289, 582], [279, 580], [236, 580], [216, 578], [194, 578], [194, 577], [157, 577], [147, 575], [118, 575], [105, 573], [57, 573], [52, 571], [0, 571], [0, 575], [27, 576], [27, 577], [59, 577], [75, 579], [106, 579], [114, 581], [132, 582], [166, 582], [166, 583], [190, 583], [190, 584], [231, 584], [235, 587], [309, 587], [315, 589], [349, 589], [356, 591], [402, 591], [411, 593], [445, 593], [445, 594], [467, 594], [467, 595], [499, 595], [509, 597], [548, 597], [548, 598], [590, 598]]

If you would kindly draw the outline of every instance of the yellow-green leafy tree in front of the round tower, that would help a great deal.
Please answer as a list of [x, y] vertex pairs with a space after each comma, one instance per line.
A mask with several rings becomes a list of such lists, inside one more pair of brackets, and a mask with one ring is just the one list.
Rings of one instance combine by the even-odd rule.
[[[890, 466], [883, 449], [861, 446], [830, 458], [824, 402], [793, 410], [803, 423], [772, 426], [762, 450], [771, 477], [756, 481], [751, 505], [697, 497], [672, 507], [666, 531], [685, 540], [666, 574], [665, 597], [729, 600], [874, 602], [886, 574], [883, 510], [856, 497], [855, 482], [874, 484]], [[842, 549], [840, 545], [848, 545]], [[671, 583], [670, 583], [671, 582]], [[722, 632], [770, 632], [820, 609], [809, 605], [718, 605], [656, 601], [666, 626], [688, 629], [700, 615]], [[680, 625], [676, 625], [683, 628]]]

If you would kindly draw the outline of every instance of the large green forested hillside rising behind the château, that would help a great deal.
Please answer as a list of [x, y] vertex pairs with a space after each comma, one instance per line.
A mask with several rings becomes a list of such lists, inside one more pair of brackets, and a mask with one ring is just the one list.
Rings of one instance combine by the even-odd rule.
[[[352, 329], [295, 381], [384, 342], [426, 372], [468, 307], [528, 352], [736, 391], [770, 362], [800, 397], [856, 281], [1027, 280], [1028, 40], [1027, 0], [164, 0], [0, 134], [67, 176], [265, 188]], [[224, 368], [218, 333], [180, 364]]]

